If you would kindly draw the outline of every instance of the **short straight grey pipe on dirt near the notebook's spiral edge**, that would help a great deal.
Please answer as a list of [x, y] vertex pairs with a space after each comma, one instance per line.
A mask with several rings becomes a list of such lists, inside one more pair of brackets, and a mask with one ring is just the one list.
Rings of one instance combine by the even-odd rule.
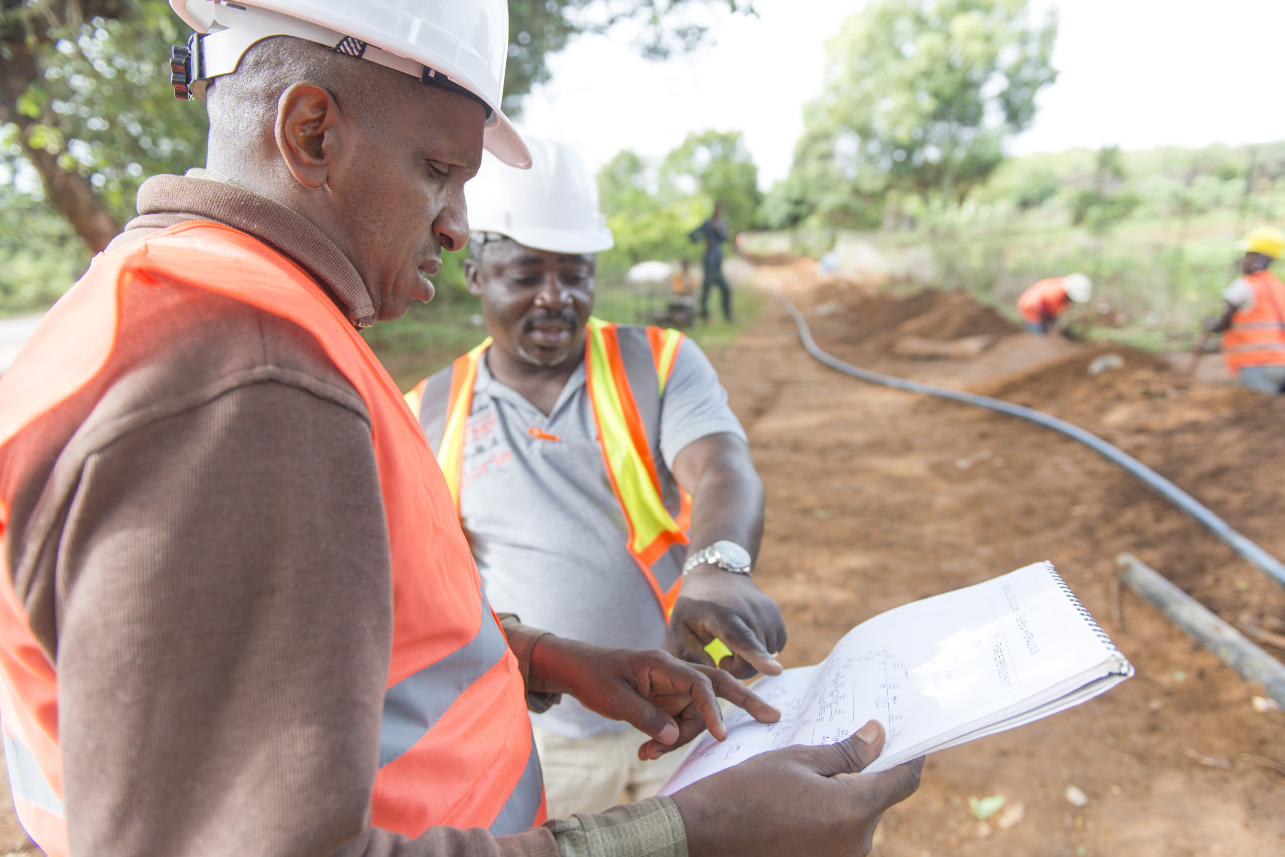
[[1122, 553], [1115, 562], [1124, 568], [1121, 580], [1126, 586], [1151, 602], [1169, 621], [1246, 681], [1258, 681], [1266, 688], [1268, 697], [1285, 706], [1285, 665], [1133, 554]]

